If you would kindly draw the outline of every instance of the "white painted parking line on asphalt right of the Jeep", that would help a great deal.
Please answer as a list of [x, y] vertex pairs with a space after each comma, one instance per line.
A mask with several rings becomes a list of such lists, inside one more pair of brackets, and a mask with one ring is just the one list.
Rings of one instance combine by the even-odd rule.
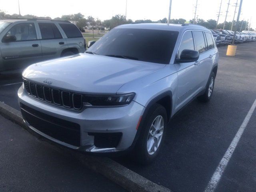
[[238, 132], [236, 133], [236, 136], [234, 137], [234, 139], [232, 140], [230, 146], [228, 147], [228, 150], [226, 151], [226, 153], [224, 154], [222, 160], [220, 161], [220, 164], [218, 165], [218, 167], [216, 168], [214, 174], [212, 175], [212, 178], [210, 180], [210, 182], [208, 183], [208, 186], [206, 187], [206, 189], [204, 190], [204, 192], [214, 192], [214, 190], [216, 189], [218, 182], [220, 181], [220, 178], [234, 152], [234, 150], [236, 149], [236, 146], [244, 132], [244, 129], [246, 128], [252, 113], [254, 112], [254, 109], [256, 108], [256, 100], [254, 101], [254, 103], [252, 104], [252, 107], [250, 108], [248, 114], [246, 115], [246, 117], [244, 118], [244, 121], [242, 123], [242, 125], [240, 126]]

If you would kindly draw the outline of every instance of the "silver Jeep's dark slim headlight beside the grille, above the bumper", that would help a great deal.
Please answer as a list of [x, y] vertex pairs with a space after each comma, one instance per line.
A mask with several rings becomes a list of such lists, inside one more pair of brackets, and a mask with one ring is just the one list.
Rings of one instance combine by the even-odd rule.
[[135, 93], [122, 95], [85, 95], [84, 106], [124, 106], [130, 104]]

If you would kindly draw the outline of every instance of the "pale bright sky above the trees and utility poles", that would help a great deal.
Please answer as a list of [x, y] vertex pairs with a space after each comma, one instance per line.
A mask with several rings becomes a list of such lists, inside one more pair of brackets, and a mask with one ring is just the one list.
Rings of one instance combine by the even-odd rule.
[[[224, 22], [229, 0], [222, 0], [219, 23]], [[234, 4], [237, 0], [230, 0], [227, 21], [232, 21]], [[168, 18], [170, 0], [127, 0], [127, 19], [150, 19], [157, 21]], [[198, 18], [217, 20], [217, 13], [221, 0], [198, 0], [196, 15]], [[238, 0], [238, 4], [240, 0]], [[194, 18], [196, 0], [172, 0], [171, 18]], [[256, 28], [256, 15], [254, 14], [256, 0], [243, 0], [240, 20], [251, 19], [251, 27]], [[18, 14], [18, 0], [0, 0], [0, 10], [8, 14]], [[84, 16], [93, 16], [100, 20], [110, 19], [116, 14], [125, 15], [126, 0], [20, 0], [20, 13], [36, 16], [60, 17], [67, 14], [81, 12]], [[238, 8], [237, 8], [238, 12]], [[237, 13], [235, 16], [235, 20]]]

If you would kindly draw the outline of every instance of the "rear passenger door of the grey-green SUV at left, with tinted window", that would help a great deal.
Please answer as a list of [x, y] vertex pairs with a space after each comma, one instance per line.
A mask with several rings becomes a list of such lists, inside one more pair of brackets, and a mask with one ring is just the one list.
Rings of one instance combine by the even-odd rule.
[[60, 57], [62, 51], [68, 48], [68, 45], [57, 26], [53, 22], [38, 22], [38, 26], [42, 45], [42, 59], [48, 60]]

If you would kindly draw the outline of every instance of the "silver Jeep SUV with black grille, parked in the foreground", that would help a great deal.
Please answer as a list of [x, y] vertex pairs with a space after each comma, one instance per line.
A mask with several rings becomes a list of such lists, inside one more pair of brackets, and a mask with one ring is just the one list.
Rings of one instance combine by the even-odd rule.
[[[92, 42], [90, 42], [92, 43]], [[83, 54], [32, 64], [18, 90], [27, 126], [85, 152], [159, 153], [168, 122], [212, 97], [218, 50], [210, 30], [192, 24], [128, 24]]]

